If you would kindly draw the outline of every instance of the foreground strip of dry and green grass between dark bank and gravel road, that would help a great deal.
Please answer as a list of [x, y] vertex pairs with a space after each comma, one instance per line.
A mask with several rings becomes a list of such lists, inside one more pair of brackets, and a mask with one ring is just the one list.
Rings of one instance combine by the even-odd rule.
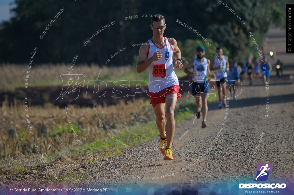
[[[129, 147], [157, 137], [155, 116], [149, 103], [149, 99], [142, 98], [108, 107], [96, 104], [103, 127], [99, 125], [93, 107], [69, 105], [70, 120], [81, 140], [77, 144], [69, 130], [67, 111], [63, 108], [51, 104], [29, 106], [27, 112], [33, 130], [30, 135], [24, 105], [15, 103], [9, 107], [7, 102], [3, 102], [0, 107], [0, 123], [3, 124], [0, 126], [0, 178], [2, 174], [19, 174], [44, 164], [34, 142], [46, 161], [52, 162], [60, 156], [83, 156], [87, 151], [95, 152], [101, 159], [120, 154], [125, 146], [114, 142], [108, 132]], [[178, 99], [176, 124], [191, 118], [192, 110], [195, 110], [193, 97]]]

